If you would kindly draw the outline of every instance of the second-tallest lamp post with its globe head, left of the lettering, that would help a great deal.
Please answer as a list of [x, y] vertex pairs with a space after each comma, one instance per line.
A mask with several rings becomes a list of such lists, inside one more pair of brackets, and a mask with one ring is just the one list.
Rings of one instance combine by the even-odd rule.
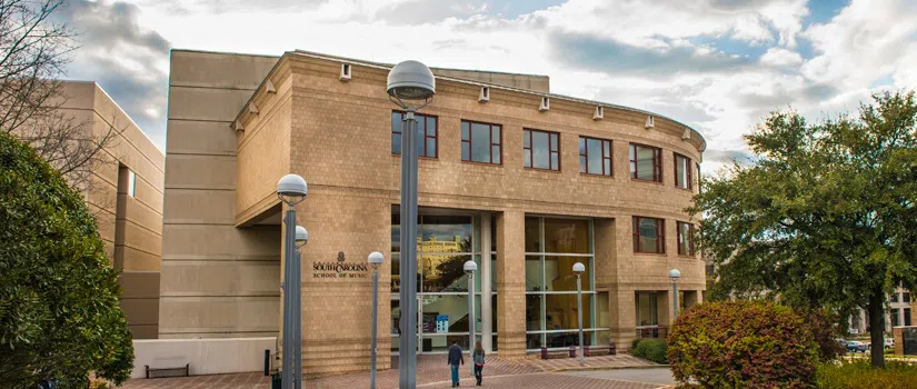
[[[296, 205], [306, 200], [306, 180], [297, 174], [287, 174], [277, 182], [277, 197], [287, 205], [286, 237], [283, 237], [283, 365], [281, 385], [285, 389], [301, 387], [302, 345], [299, 337], [300, 278], [299, 256], [296, 249]], [[305, 231], [305, 229], [303, 229]], [[308, 237], [308, 233], [307, 233]], [[293, 273], [296, 270], [296, 273]], [[298, 357], [297, 357], [298, 356]], [[296, 382], [296, 383], [293, 383]]]

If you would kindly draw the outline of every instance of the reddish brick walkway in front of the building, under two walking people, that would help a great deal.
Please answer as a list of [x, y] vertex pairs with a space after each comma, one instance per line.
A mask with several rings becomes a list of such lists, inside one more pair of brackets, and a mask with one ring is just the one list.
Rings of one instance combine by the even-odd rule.
[[[586, 359], [586, 367], [590, 369], [612, 369], [625, 367], [647, 367], [652, 363], [628, 355], [590, 357]], [[657, 385], [609, 381], [588, 377], [572, 377], [550, 373], [564, 369], [579, 368], [579, 360], [575, 358], [551, 360], [502, 361], [494, 358], [485, 367], [487, 387], [490, 388], [658, 388]], [[470, 367], [462, 366], [460, 377], [465, 386], [474, 386]], [[449, 368], [446, 366], [446, 356], [418, 356], [417, 385], [430, 388], [450, 387]], [[378, 388], [398, 387], [398, 359], [392, 358], [392, 369], [381, 370], [376, 375]], [[265, 389], [270, 387], [270, 380], [261, 373], [213, 375], [180, 378], [131, 379], [123, 388], [227, 388], [227, 389]], [[352, 373], [306, 380], [308, 389], [355, 389], [369, 387], [369, 373]]]

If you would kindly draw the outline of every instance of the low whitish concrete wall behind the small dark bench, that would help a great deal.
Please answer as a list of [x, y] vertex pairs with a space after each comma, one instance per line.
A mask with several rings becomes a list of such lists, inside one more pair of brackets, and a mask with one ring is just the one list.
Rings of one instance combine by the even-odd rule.
[[262, 371], [265, 350], [273, 351], [276, 345], [275, 337], [137, 339], [133, 341], [133, 372], [130, 377], [144, 377], [144, 365], [171, 368], [191, 363], [191, 376]]

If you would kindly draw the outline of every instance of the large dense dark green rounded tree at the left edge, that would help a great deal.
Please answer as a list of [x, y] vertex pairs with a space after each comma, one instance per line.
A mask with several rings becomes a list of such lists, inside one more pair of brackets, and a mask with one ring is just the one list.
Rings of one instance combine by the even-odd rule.
[[0, 131], [0, 382], [120, 383], [133, 347], [96, 220], [60, 172]]

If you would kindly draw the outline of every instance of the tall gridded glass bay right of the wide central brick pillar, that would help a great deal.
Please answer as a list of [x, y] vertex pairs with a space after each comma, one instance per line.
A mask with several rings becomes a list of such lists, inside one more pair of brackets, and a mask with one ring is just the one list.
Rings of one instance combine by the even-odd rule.
[[[592, 222], [527, 217], [525, 231], [526, 348], [567, 348], [579, 343], [577, 278], [572, 272], [576, 262], [586, 266], [581, 276], [584, 342], [592, 345], [597, 336], [607, 341], [607, 313], [605, 327], [597, 326], [592, 315], [597, 306]], [[608, 297], [602, 297], [607, 307]]]

